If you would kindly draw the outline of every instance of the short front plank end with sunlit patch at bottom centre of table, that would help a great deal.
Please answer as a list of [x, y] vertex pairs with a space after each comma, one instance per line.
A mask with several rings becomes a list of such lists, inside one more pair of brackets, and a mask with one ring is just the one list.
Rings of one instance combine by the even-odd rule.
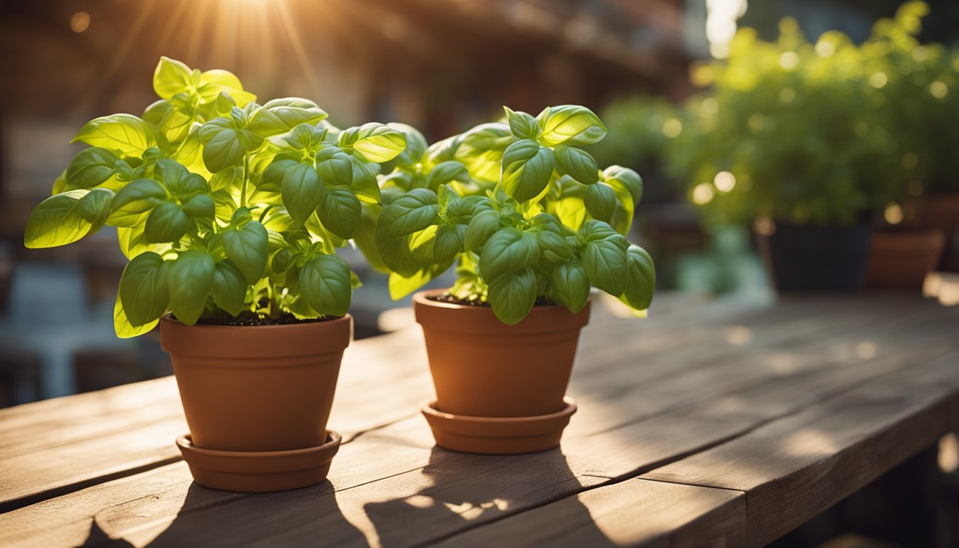
[[631, 479], [450, 536], [435, 546], [741, 546], [741, 491]]

